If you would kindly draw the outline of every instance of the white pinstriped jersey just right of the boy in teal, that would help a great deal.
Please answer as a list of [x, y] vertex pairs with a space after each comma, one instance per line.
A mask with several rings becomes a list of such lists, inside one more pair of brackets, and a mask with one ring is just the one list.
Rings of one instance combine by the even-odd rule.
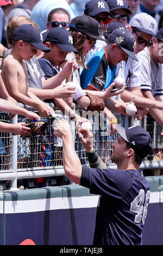
[[116, 76], [121, 76], [124, 78], [124, 81], [127, 86], [137, 87], [141, 86], [141, 55], [140, 53], [136, 54], [138, 61], [135, 61], [133, 58], [128, 57], [127, 61], [122, 61], [117, 65]]

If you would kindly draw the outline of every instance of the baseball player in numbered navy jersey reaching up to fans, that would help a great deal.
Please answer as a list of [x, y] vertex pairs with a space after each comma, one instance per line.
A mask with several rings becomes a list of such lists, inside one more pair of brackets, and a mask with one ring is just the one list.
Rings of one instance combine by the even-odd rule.
[[139, 166], [151, 153], [151, 138], [139, 126], [124, 129], [117, 124], [116, 129], [120, 136], [112, 144], [110, 159], [117, 164], [117, 169], [106, 169], [93, 148], [93, 135], [89, 130], [80, 129], [78, 136], [86, 149], [90, 168], [80, 163], [66, 121], [55, 124], [54, 134], [64, 141], [65, 175], [89, 188], [90, 193], [100, 195], [93, 245], [141, 245], [150, 190]]

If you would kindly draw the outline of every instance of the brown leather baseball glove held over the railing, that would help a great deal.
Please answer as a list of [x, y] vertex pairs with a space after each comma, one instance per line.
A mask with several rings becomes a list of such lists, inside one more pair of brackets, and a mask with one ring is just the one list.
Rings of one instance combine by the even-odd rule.
[[98, 111], [99, 113], [100, 111], [104, 110], [105, 104], [104, 104], [103, 98], [87, 92], [85, 96], [89, 97], [90, 99], [90, 105], [87, 106], [86, 112], [90, 110], [90, 111]]

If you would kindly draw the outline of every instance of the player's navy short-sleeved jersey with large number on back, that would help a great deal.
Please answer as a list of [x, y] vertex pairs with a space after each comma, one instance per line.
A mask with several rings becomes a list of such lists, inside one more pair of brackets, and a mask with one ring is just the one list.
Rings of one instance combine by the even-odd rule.
[[100, 195], [93, 245], [141, 245], [150, 197], [141, 171], [83, 167], [80, 185]]

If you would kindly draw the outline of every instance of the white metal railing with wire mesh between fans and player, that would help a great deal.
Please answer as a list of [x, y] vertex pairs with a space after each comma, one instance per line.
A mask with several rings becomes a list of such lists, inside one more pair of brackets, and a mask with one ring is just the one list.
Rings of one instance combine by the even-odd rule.
[[[53, 104], [50, 104], [54, 107]], [[32, 108], [27, 107], [29, 110]], [[76, 106], [75, 111], [81, 115], [84, 109]], [[61, 111], [55, 109], [55, 113], [61, 114]], [[163, 141], [161, 138], [162, 128], [156, 123], [151, 116], [145, 116], [142, 121], [134, 120], [133, 117], [126, 117], [121, 114], [114, 113], [118, 123], [123, 127], [140, 125], [147, 130], [152, 137], [153, 152], [141, 164], [141, 169], [161, 169], [163, 168]], [[83, 165], [89, 165], [85, 149], [82, 147], [78, 139], [74, 122], [70, 121], [74, 147]], [[109, 135], [107, 131], [108, 124], [101, 115], [88, 116], [92, 123], [94, 147], [103, 159], [103, 161], [111, 168], [116, 168], [116, 165], [111, 162], [109, 156], [112, 151], [111, 144], [117, 140], [117, 133]], [[10, 133], [0, 133], [0, 181], [10, 181], [10, 189], [17, 188], [17, 179], [37, 178], [37, 177], [54, 177], [65, 174], [62, 166], [62, 140], [53, 135], [52, 118], [46, 118], [48, 127], [45, 134], [41, 136], [29, 137], [22, 139], [21, 136], [13, 136]], [[17, 123], [30, 120], [23, 116], [15, 116], [10, 120], [9, 115], [1, 112], [2, 122]]]

